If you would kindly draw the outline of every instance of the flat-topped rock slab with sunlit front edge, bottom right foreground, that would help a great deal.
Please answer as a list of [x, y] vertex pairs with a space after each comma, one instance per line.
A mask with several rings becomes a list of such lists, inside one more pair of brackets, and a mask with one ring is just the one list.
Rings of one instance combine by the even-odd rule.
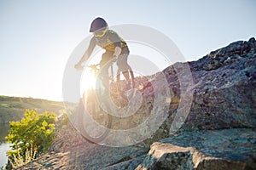
[[136, 169], [253, 169], [255, 134], [245, 128], [183, 132], [152, 144]]

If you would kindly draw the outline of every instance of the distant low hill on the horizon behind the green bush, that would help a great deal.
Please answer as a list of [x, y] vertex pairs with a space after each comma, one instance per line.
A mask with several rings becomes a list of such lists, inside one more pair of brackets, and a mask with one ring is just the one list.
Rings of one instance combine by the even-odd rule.
[[39, 113], [53, 111], [56, 115], [61, 115], [64, 111], [64, 106], [62, 102], [49, 101], [46, 99], [0, 95], [0, 124], [9, 123], [10, 121], [19, 121], [26, 109], [35, 110]]

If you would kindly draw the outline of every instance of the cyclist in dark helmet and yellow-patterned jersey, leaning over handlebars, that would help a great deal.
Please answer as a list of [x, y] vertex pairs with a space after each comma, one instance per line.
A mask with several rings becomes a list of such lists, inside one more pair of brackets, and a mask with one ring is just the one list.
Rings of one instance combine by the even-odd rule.
[[90, 40], [89, 48], [87, 48], [83, 57], [79, 60], [79, 63], [75, 65], [75, 68], [81, 69], [81, 64], [90, 58], [93, 49], [98, 45], [106, 50], [106, 52], [102, 54], [102, 60], [100, 62], [104, 82], [108, 81], [108, 68], [112, 63], [110, 61], [116, 59], [116, 64], [118, 65], [117, 81], [119, 82], [120, 72], [122, 72], [126, 82], [128, 82], [130, 72], [132, 85], [134, 85], [133, 71], [131, 70], [131, 66], [127, 63], [127, 57], [130, 53], [127, 43], [119, 37], [115, 31], [109, 30], [108, 23], [101, 17], [92, 21], [90, 32], [93, 32], [93, 37]]

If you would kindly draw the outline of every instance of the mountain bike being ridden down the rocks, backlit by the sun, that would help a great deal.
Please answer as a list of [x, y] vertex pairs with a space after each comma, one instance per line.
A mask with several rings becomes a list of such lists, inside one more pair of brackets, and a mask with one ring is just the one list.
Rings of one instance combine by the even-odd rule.
[[[80, 99], [79, 106], [76, 112], [79, 114], [78, 125], [79, 133], [82, 136], [93, 143], [99, 143], [108, 136], [112, 127], [113, 115], [109, 114], [111, 111], [108, 101], [115, 100], [119, 104], [131, 98], [131, 90], [127, 88], [127, 83], [124, 81], [118, 85], [114, 82], [113, 77], [113, 62], [110, 65], [110, 75], [108, 76], [108, 82], [104, 82], [103, 78], [99, 74], [100, 65], [88, 65], [85, 68], [90, 70], [92, 77], [97, 77], [96, 84], [92, 88], [84, 91], [82, 99]], [[108, 84], [106, 84], [108, 83]], [[120, 88], [124, 86], [125, 88]], [[131, 87], [134, 88], [134, 83], [131, 83]], [[110, 95], [106, 95], [109, 93]], [[121, 98], [120, 98], [121, 97]]]

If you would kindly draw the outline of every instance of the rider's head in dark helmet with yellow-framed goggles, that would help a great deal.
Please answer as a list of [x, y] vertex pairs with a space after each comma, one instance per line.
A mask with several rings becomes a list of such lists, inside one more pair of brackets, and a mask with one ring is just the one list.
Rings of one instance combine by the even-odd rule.
[[108, 31], [108, 23], [101, 17], [96, 18], [90, 25], [90, 32], [93, 32], [95, 37], [103, 37]]

